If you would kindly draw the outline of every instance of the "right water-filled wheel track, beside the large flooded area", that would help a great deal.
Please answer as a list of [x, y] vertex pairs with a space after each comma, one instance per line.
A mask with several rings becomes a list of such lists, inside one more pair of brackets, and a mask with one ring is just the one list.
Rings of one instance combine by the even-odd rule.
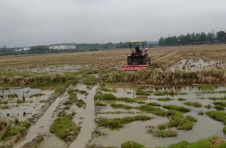
[[91, 139], [95, 128], [94, 95], [98, 86], [94, 86], [87, 96], [86, 109], [83, 113], [83, 124], [77, 139], [70, 145], [70, 148], [84, 148]]

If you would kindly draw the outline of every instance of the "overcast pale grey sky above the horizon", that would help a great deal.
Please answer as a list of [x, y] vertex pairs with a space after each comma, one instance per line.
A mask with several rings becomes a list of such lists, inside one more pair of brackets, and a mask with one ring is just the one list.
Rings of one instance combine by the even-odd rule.
[[0, 0], [0, 47], [226, 31], [226, 0]]

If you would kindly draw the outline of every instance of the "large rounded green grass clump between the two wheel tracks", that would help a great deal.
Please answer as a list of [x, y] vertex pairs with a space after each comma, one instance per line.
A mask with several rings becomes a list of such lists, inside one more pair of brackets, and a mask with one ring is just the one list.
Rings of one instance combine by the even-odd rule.
[[72, 134], [77, 136], [80, 132], [80, 127], [77, 126], [72, 119], [73, 117], [71, 115], [55, 119], [50, 127], [50, 132], [65, 141], [67, 140], [67, 137]]

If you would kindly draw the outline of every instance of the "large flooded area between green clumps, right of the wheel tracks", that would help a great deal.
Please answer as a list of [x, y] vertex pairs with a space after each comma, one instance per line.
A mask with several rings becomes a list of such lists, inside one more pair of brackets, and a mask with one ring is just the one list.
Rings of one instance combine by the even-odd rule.
[[[139, 86], [141, 87], [141, 86]], [[138, 88], [138, 86], [132, 86], [129, 84], [110, 84], [107, 85], [107, 88], [109, 89], [114, 89], [116, 92], [113, 92], [113, 94], [117, 97], [130, 97], [133, 98], [137, 101], [140, 101], [139, 98], [143, 98], [142, 101], [145, 103], [149, 102], [156, 102], [161, 105], [178, 105], [178, 106], [183, 106], [186, 108], [190, 108], [190, 112], [185, 113], [184, 116], [191, 115], [195, 117], [198, 122], [194, 123], [193, 129], [190, 131], [183, 131], [183, 130], [176, 130], [175, 128], [172, 128], [172, 130], [177, 131], [178, 136], [173, 137], [173, 138], [159, 138], [159, 137], [154, 137], [152, 134], [147, 133], [148, 129], [146, 128], [147, 126], [151, 125], [154, 126], [155, 129], [158, 128], [159, 124], [167, 124], [169, 122], [169, 119], [167, 117], [159, 117], [156, 115], [152, 114], [147, 114], [147, 113], [141, 113], [139, 110], [136, 109], [130, 109], [130, 110], [125, 110], [125, 109], [115, 109], [110, 106], [112, 103], [120, 103], [124, 105], [129, 105], [129, 106], [140, 106], [142, 104], [138, 103], [127, 103], [127, 102], [121, 102], [121, 101], [101, 101], [105, 103], [107, 106], [105, 107], [97, 107], [98, 111], [96, 114], [96, 118], [99, 117], [107, 117], [107, 118], [123, 118], [123, 117], [132, 117], [135, 115], [148, 115], [153, 117], [153, 119], [148, 120], [148, 121], [136, 121], [132, 122], [129, 124], [124, 125], [124, 128], [120, 128], [118, 130], [110, 130], [107, 128], [99, 128], [101, 133], [104, 133], [104, 136], [96, 137], [94, 138], [91, 142], [90, 145], [96, 144], [96, 145], [102, 145], [102, 146], [117, 146], [120, 147], [122, 143], [126, 141], [135, 141], [138, 143], [141, 143], [145, 145], [146, 147], [158, 147], [158, 146], [168, 146], [170, 144], [174, 144], [177, 142], [180, 142], [182, 140], [186, 140], [189, 142], [195, 142], [197, 139], [203, 139], [203, 138], [208, 138], [213, 135], [219, 136], [221, 138], [226, 138], [224, 133], [223, 133], [223, 128], [224, 124], [215, 120], [212, 120], [208, 116], [204, 115], [198, 115], [199, 111], [210, 111], [210, 110], [215, 110], [213, 107], [213, 101], [210, 100], [209, 98], [211, 97], [224, 97], [226, 96], [226, 93], [214, 93], [214, 94], [208, 94], [205, 93], [203, 94], [203, 91], [208, 91], [208, 90], [200, 90], [198, 87], [184, 87], [180, 90], [175, 89], [175, 88], [162, 88], [162, 89], [155, 89], [155, 88], [145, 88], [146, 90], [153, 91], [149, 96], [134, 96], [133, 94], [128, 94], [128, 92], [134, 92]], [[217, 89], [212, 89], [209, 91], [221, 91], [225, 90], [225, 87], [219, 87]], [[176, 91], [176, 92], [183, 92], [187, 93], [184, 95], [162, 95], [162, 96], [156, 96], [154, 95], [154, 92], [156, 91]], [[103, 92], [103, 93], [109, 93], [109, 92]], [[170, 101], [158, 101], [158, 98], [166, 98], [169, 97], [172, 100]], [[146, 98], [146, 99], [144, 99]], [[184, 98], [186, 101], [178, 101], [178, 98]], [[192, 106], [187, 106], [184, 105], [184, 102], [199, 102], [202, 104], [202, 107], [200, 108], [195, 108]], [[210, 104], [212, 106], [212, 109], [206, 109], [204, 108], [205, 105]], [[164, 109], [160, 107], [161, 109]], [[165, 110], [165, 109], [164, 109]], [[117, 113], [118, 111], [121, 111], [123, 113]], [[111, 113], [110, 113], [111, 112]]]

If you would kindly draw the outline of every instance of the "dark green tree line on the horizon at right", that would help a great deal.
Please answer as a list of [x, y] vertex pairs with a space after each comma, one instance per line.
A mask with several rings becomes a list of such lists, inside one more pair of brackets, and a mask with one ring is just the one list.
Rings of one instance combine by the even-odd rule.
[[188, 33], [187, 35], [181, 34], [180, 36], [161, 37], [159, 39], [159, 46], [175, 46], [175, 45], [201, 45], [201, 44], [214, 44], [226, 43], [225, 31], [217, 33]]

